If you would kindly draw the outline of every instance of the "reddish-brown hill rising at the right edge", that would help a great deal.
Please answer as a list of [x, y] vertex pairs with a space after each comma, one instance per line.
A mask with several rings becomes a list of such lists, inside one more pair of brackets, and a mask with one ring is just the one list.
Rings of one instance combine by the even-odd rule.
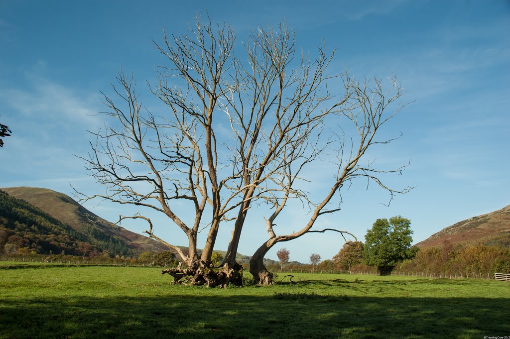
[[510, 205], [495, 212], [457, 222], [415, 246], [441, 246], [445, 241], [464, 245], [510, 243]]

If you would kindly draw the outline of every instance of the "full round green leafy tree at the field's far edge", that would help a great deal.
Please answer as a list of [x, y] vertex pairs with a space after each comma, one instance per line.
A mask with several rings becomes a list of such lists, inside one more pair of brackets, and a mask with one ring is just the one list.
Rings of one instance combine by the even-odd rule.
[[365, 264], [377, 266], [379, 274], [389, 274], [398, 263], [414, 256], [411, 234], [409, 219], [401, 216], [377, 219], [365, 236]]

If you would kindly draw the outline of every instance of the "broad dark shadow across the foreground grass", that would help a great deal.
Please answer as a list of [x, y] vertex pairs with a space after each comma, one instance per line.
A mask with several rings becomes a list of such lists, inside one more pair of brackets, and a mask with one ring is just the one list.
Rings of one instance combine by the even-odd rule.
[[297, 296], [2, 298], [0, 338], [482, 338], [508, 299]]

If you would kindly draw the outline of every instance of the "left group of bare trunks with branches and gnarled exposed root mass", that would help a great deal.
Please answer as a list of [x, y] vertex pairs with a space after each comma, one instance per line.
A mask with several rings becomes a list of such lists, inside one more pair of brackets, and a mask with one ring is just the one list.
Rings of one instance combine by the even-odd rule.
[[[168, 65], [159, 66], [158, 83], [149, 88], [166, 105], [165, 114], [144, 109], [133, 76], [122, 71], [112, 85], [116, 98], [104, 94], [109, 110], [103, 113], [114, 121], [93, 133], [92, 152], [80, 158], [106, 192], [76, 194], [82, 201], [100, 198], [148, 208], [181, 228], [188, 237], [187, 252], [159, 238], [143, 210], [119, 219], [145, 220], [145, 233], [177, 252], [187, 267], [166, 272], [176, 281], [185, 278], [189, 284], [212, 286], [231, 280], [239, 283], [239, 266], [225, 266], [222, 272], [212, 273], [209, 265], [219, 224], [235, 208], [233, 200], [239, 194], [234, 191], [222, 196], [228, 176], [223, 178], [224, 171], [218, 169], [221, 142], [215, 133], [218, 99], [230, 91], [225, 77], [235, 62], [235, 36], [227, 25], [201, 24], [198, 18], [190, 30], [191, 37], [165, 34], [162, 44], [155, 43]], [[191, 224], [185, 222], [190, 214], [194, 216]], [[209, 236], [199, 256], [197, 234], [206, 227]]]

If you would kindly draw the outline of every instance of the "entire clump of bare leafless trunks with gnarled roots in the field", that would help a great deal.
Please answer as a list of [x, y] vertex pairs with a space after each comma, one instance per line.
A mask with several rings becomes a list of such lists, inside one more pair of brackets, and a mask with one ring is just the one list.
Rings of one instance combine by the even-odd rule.
[[[274, 208], [266, 219], [270, 239], [252, 258], [250, 271], [258, 282], [269, 277], [264, 280], [269, 284], [264, 254], [279, 241], [316, 231], [310, 228], [318, 216], [338, 210], [325, 207], [343, 184], [364, 176], [385, 187], [375, 175], [386, 172], [358, 166], [358, 162], [368, 146], [377, 143], [373, 135], [386, 121], [381, 121], [379, 113], [391, 100], [382, 103], [384, 107], [372, 107], [371, 101], [362, 106], [361, 96], [370, 100], [377, 93], [360, 87], [346, 74], [327, 74], [333, 53], [328, 55], [324, 46], [315, 59], [296, 53], [294, 35], [284, 24], [252, 31], [244, 44], [245, 59], [234, 55], [235, 41], [228, 25], [213, 25], [210, 20], [202, 24], [199, 18], [190, 36], [164, 34], [163, 43], [155, 45], [167, 64], [158, 67], [157, 85], [149, 88], [167, 112], [154, 114], [145, 109], [133, 75], [121, 71], [112, 85], [116, 98], [104, 95], [108, 108], [104, 114], [114, 123], [93, 133], [92, 151], [81, 157], [106, 192], [77, 195], [82, 201], [100, 198], [140, 208], [135, 215], [120, 216], [119, 222], [144, 220], [150, 238], [179, 254], [186, 268], [164, 271], [176, 282], [185, 278], [189, 284], [241, 284], [242, 268], [235, 257], [242, 228], [251, 207], [267, 204]], [[333, 78], [344, 82], [339, 95], [326, 86]], [[370, 111], [360, 116], [355, 110]], [[339, 167], [331, 193], [314, 203], [297, 181], [303, 168], [334, 145], [333, 139], [323, 136], [326, 119], [341, 117], [358, 126], [363, 141], [360, 150], [351, 149], [346, 164], [342, 164], [345, 144], [340, 142], [338, 159], [345, 170]], [[224, 125], [230, 127], [228, 135]], [[332, 135], [339, 136], [339, 131], [341, 127]], [[313, 217], [295, 236], [277, 237], [274, 219], [291, 199], [313, 207]], [[147, 210], [167, 216], [179, 227], [188, 238], [189, 251], [158, 237], [160, 226], [155, 227], [144, 214]], [[232, 239], [222, 269], [213, 271], [211, 255], [218, 230], [229, 221], [234, 222]], [[202, 230], [208, 234], [198, 253], [197, 234]]]

